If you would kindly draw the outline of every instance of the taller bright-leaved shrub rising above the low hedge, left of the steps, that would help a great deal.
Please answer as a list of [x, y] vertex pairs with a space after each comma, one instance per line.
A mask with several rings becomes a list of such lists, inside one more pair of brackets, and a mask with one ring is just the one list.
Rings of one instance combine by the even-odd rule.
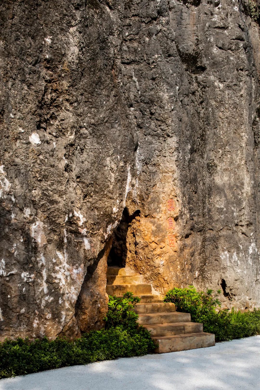
[[134, 305], [140, 302], [140, 298], [133, 293], [125, 293], [122, 297], [109, 296], [108, 312], [104, 320], [106, 328], [122, 325], [125, 329], [136, 329], [138, 326], [138, 314], [134, 312]]

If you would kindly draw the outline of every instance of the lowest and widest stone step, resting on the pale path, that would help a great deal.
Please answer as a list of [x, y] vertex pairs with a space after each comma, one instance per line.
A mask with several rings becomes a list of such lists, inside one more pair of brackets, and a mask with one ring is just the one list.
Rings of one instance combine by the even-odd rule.
[[152, 337], [156, 342], [155, 353], [186, 351], [187, 349], [212, 347], [215, 335], [212, 333], [187, 333], [184, 335]]

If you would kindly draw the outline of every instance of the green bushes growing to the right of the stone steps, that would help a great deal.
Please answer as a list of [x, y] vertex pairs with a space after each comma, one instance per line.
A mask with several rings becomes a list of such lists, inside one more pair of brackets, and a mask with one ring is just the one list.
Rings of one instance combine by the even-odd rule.
[[216, 341], [240, 339], [260, 334], [260, 309], [253, 312], [221, 309], [218, 291], [198, 292], [193, 286], [175, 287], [168, 291], [164, 302], [175, 303], [176, 310], [191, 314], [191, 321], [203, 323], [204, 332], [214, 333]]

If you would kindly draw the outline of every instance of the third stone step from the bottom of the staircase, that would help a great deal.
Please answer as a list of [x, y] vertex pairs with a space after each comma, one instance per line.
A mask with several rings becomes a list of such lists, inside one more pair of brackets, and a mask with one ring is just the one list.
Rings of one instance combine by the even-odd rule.
[[171, 324], [176, 322], [191, 322], [189, 313], [180, 312], [162, 312], [139, 314], [138, 323], [140, 325], [156, 325], [156, 324]]

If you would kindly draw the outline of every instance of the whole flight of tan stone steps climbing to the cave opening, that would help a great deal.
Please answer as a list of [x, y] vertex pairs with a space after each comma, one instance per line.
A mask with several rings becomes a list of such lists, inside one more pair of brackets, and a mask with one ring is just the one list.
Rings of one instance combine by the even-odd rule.
[[203, 324], [191, 322], [189, 313], [176, 312], [174, 303], [152, 294], [150, 284], [141, 284], [139, 275], [127, 275], [125, 268], [108, 267], [106, 291], [122, 296], [127, 291], [141, 298], [135, 305], [138, 322], [149, 330], [158, 347], [156, 353], [184, 351], [215, 345], [215, 335], [203, 332]]

